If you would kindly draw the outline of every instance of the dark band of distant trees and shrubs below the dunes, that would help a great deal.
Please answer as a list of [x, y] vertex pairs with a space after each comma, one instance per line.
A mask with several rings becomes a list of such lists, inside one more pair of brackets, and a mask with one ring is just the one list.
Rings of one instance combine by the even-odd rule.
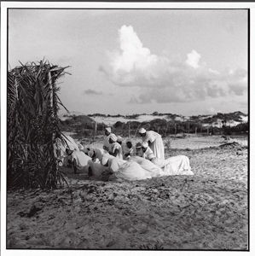
[[[239, 113], [240, 114], [240, 113]], [[204, 126], [203, 124], [212, 124], [217, 119], [223, 119], [221, 127]], [[123, 137], [136, 136], [138, 130], [144, 127], [147, 130], [157, 131], [163, 137], [174, 135], [177, 133], [206, 133], [208, 135], [218, 134], [241, 134], [246, 133], [249, 129], [247, 123], [241, 123], [235, 126], [228, 126], [227, 121], [234, 119], [241, 121], [237, 114], [233, 113], [217, 113], [212, 118], [200, 119], [198, 117], [191, 117], [186, 121], [167, 121], [165, 119], [154, 119], [147, 122], [128, 121], [126, 123], [118, 121], [113, 125], [113, 131]], [[103, 135], [104, 128], [107, 125], [103, 123], [96, 123], [93, 119], [86, 115], [72, 116], [70, 119], [61, 121], [62, 131], [71, 131], [77, 133], [82, 137], [93, 137], [96, 135]], [[96, 131], [96, 132], [95, 132]]]

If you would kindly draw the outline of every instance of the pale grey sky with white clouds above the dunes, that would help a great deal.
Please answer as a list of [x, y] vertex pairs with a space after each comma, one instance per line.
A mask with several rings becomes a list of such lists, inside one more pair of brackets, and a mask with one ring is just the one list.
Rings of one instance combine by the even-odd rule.
[[67, 67], [80, 113], [247, 113], [247, 11], [9, 9], [9, 68]]

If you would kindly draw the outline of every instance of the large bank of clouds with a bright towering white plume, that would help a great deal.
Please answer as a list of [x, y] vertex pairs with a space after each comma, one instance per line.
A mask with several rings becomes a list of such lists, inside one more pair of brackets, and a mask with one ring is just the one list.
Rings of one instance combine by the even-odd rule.
[[246, 70], [218, 72], [200, 60], [195, 49], [186, 60], [154, 55], [143, 46], [132, 26], [119, 29], [119, 49], [108, 53], [109, 66], [100, 67], [113, 84], [134, 87], [131, 103], [193, 102], [246, 91]]

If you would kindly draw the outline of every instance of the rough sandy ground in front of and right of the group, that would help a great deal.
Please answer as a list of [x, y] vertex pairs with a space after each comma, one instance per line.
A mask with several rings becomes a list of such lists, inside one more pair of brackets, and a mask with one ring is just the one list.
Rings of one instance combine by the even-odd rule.
[[[187, 144], [187, 143], [186, 143]], [[170, 149], [194, 176], [89, 180], [70, 188], [8, 193], [8, 248], [246, 250], [247, 148]]]

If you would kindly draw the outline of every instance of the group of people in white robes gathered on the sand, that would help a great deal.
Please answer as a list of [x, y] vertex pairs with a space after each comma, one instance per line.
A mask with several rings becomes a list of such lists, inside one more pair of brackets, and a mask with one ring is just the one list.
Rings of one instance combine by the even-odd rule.
[[72, 138], [65, 147], [60, 140], [55, 143], [55, 156], [59, 164], [70, 163], [74, 172], [88, 172], [89, 176], [119, 177], [137, 180], [167, 175], [193, 175], [188, 157], [177, 155], [165, 159], [162, 137], [155, 131], [141, 128], [140, 142], [116, 136], [111, 127], [105, 128], [102, 148], [88, 148], [81, 143], [72, 146]]

